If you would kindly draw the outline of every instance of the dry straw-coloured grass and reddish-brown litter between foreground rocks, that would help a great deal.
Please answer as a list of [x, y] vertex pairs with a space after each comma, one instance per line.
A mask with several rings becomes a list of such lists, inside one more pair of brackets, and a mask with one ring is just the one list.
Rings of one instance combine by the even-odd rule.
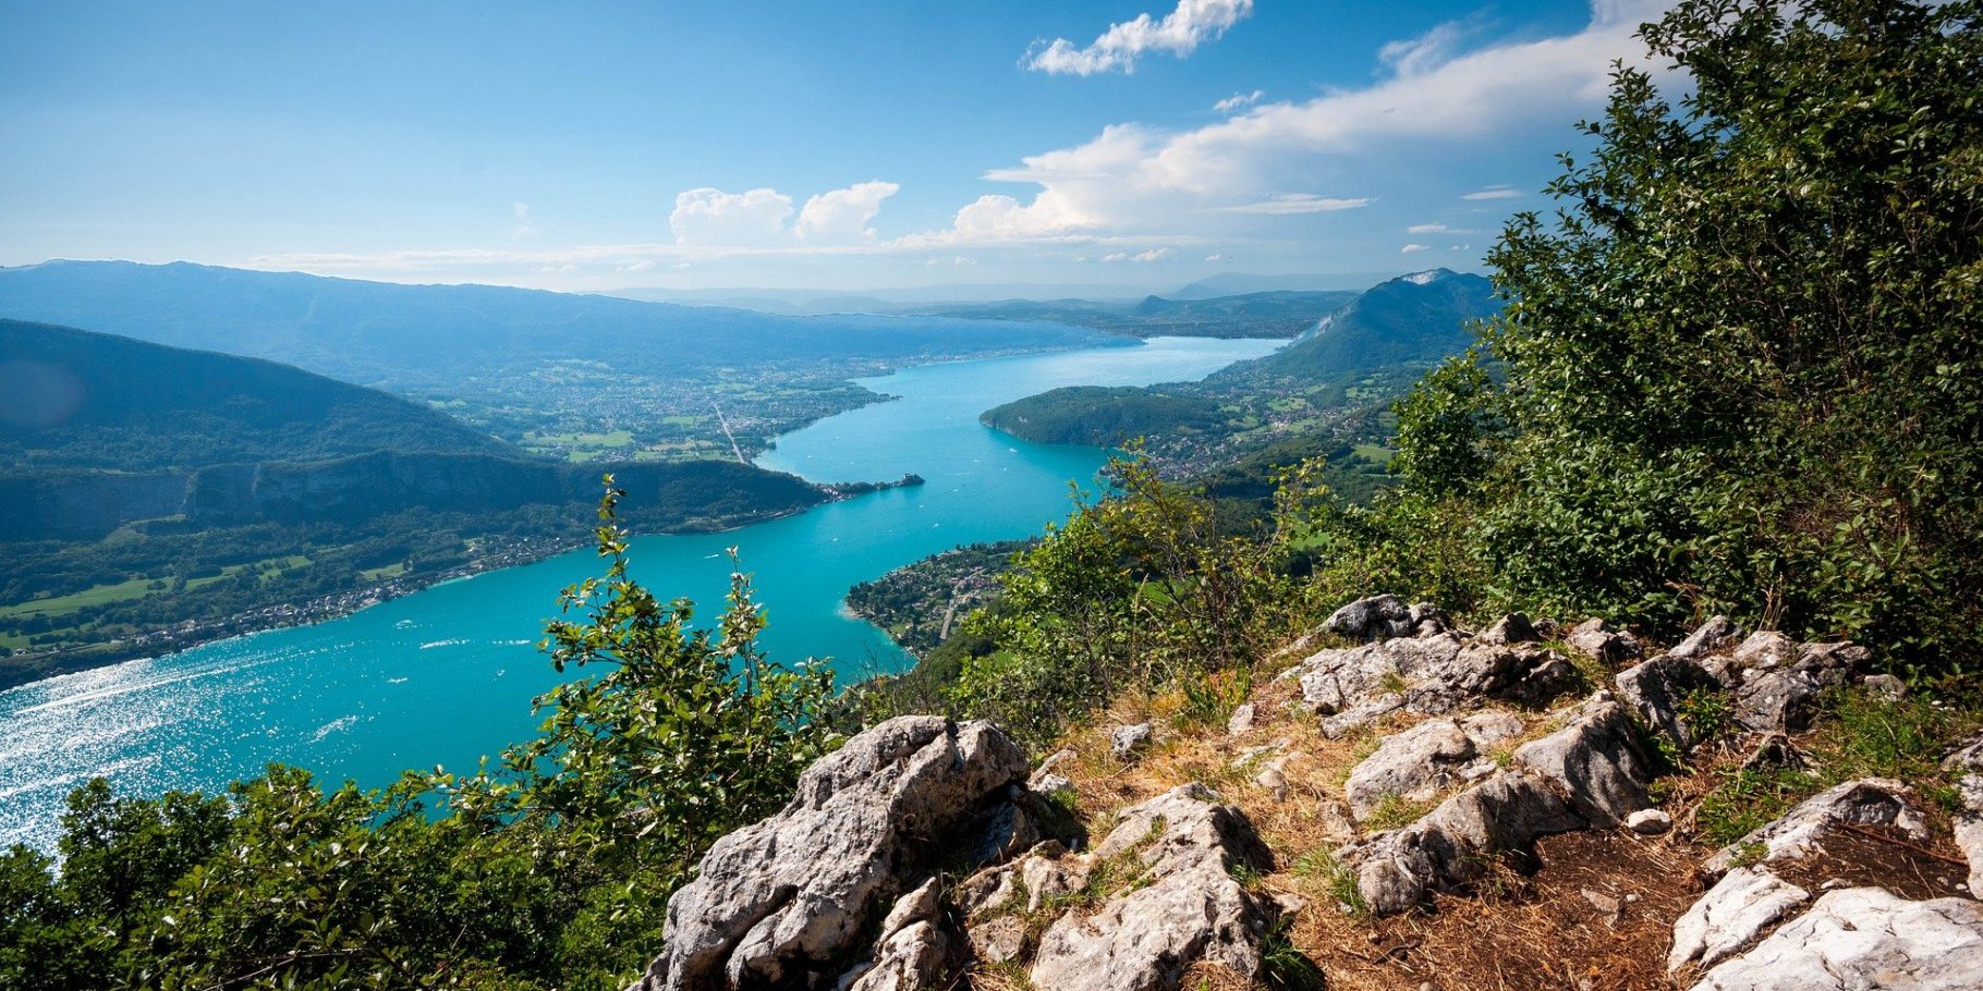
[[[1077, 757], [1061, 767], [1075, 781], [1077, 807], [1099, 840], [1116, 811], [1188, 781], [1216, 789], [1239, 807], [1275, 854], [1259, 880], [1267, 892], [1297, 896], [1303, 908], [1289, 937], [1341, 991], [1434, 989], [1672, 989], [1666, 949], [1674, 920], [1697, 898], [1693, 864], [1699, 848], [1682, 838], [1640, 838], [1628, 832], [1576, 832], [1545, 838], [1533, 876], [1503, 870], [1471, 896], [1442, 896], [1422, 914], [1370, 920], [1339, 908], [1339, 878], [1327, 864], [1342, 834], [1339, 815], [1342, 781], [1376, 749], [1378, 741], [1416, 723], [1398, 716], [1344, 739], [1329, 739], [1319, 721], [1291, 706], [1293, 684], [1261, 680], [1253, 692], [1255, 719], [1247, 733], [1224, 727], [1164, 731], [1184, 700], [1156, 694], [1124, 700], [1079, 727], [1061, 745]], [[1521, 714], [1525, 731], [1497, 751], [1547, 735], [1559, 719]], [[1158, 739], [1142, 759], [1122, 765], [1108, 755], [1108, 731], [1154, 719]], [[1243, 767], [1233, 761], [1247, 749], [1285, 741]], [[1283, 759], [1285, 787], [1255, 781], [1273, 759]], [[1624, 910], [1602, 916], [1584, 890], [1616, 898]], [[1632, 896], [1626, 902], [1626, 896]], [[984, 975], [976, 987], [1015, 989], [1007, 975]], [[1186, 989], [1225, 991], [1247, 983], [1224, 967], [1196, 967]]]

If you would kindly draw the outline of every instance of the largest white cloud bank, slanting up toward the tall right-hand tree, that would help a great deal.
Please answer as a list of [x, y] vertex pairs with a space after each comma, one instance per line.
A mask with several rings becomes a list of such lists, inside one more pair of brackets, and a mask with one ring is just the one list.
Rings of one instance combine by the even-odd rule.
[[[1368, 161], [1394, 149], [1461, 145], [1525, 125], [1573, 121], [1602, 105], [1612, 59], [1648, 63], [1634, 32], [1638, 24], [1658, 18], [1666, 2], [1594, 0], [1582, 30], [1555, 38], [1481, 44], [1471, 24], [1436, 28], [1390, 46], [1382, 54], [1382, 75], [1362, 89], [1307, 101], [1263, 101], [1188, 131], [1110, 125], [1083, 145], [986, 172], [988, 180], [1033, 184], [1037, 192], [1031, 202], [1009, 194], [984, 196], [958, 212], [954, 230], [930, 238], [1148, 236], [1164, 224], [1188, 224], [1194, 212], [1323, 212], [1327, 200], [1321, 196], [1297, 202], [1277, 200], [1271, 192], [1285, 188], [1293, 176], [1327, 168], [1331, 161]], [[1190, 20], [1206, 10], [1212, 6], [1180, 4], [1174, 16]], [[1241, 8], [1225, 4], [1220, 10]], [[1148, 28], [1156, 30], [1156, 24]], [[1103, 42], [1095, 50], [1116, 52]], [[1067, 52], [1075, 57], [1087, 50]], [[1045, 57], [1045, 52], [1037, 55]], [[1509, 186], [1467, 194], [1475, 200], [1517, 196], [1521, 192]]]

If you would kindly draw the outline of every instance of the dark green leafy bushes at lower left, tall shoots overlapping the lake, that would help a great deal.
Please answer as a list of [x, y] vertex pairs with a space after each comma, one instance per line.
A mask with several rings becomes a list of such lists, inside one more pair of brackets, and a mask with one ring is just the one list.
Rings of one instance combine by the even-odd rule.
[[[563, 593], [553, 664], [607, 668], [537, 700], [537, 739], [468, 777], [321, 789], [272, 767], [226, 799], [69, 799], [63, 866], [0, 856], [0, 987], [619, 989], [666, 896], [833, 745], [831, 674], [765, 662], [732, 575], [716, 632], [627, 571]], [[432, 805], [430, 805], [432, 803]]]

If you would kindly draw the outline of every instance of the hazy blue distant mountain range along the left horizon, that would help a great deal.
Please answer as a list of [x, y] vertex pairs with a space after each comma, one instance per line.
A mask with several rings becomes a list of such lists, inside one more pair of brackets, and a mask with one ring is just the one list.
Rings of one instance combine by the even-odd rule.
[[547, 359], [694, 375], [740, 363], [914, 363], [1093, 347], [1061, 325], [777, 317], [498, 285], [395, 285], [192, 264], [46, 262], [0, 270], [0, 315], [295, 365], [347, 383], [472, 388]]

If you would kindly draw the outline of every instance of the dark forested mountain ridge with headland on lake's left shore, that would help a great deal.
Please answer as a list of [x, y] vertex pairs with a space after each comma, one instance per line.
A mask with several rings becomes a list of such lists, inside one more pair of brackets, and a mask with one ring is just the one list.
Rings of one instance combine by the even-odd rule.
[[642, 529], [831, 497], [734, 460], [557, 462], [286, 365], [0, 321], [0, 686], [520, 563], [585, 535], [603, 472]]

